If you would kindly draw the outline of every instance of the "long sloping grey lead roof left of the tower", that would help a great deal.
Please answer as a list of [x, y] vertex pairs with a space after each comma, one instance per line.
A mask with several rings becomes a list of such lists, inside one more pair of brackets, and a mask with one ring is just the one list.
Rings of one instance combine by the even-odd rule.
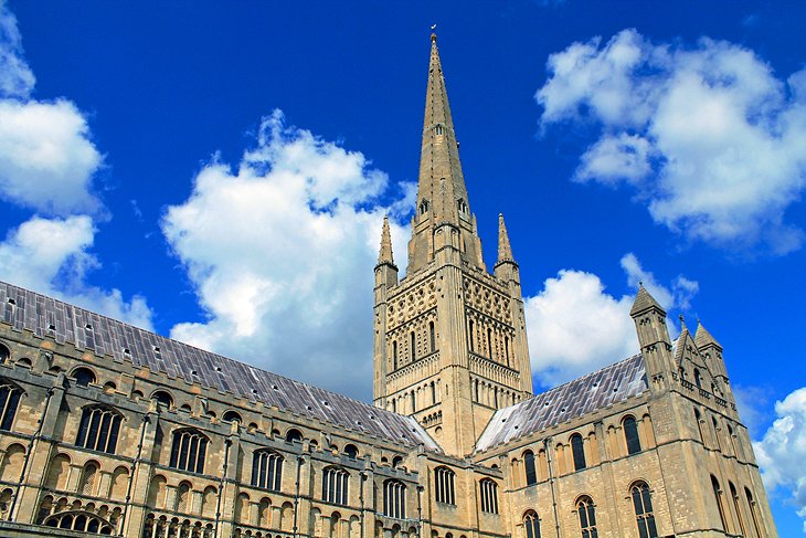
[[384, 437], [439, 450], [416, 420], [194, 348], [52, 297], [0, 282], [0, 320], [40, 338], [74, 344], [118, 363], [130, 360], [189, 383], [198, 381], [267, 407]]

